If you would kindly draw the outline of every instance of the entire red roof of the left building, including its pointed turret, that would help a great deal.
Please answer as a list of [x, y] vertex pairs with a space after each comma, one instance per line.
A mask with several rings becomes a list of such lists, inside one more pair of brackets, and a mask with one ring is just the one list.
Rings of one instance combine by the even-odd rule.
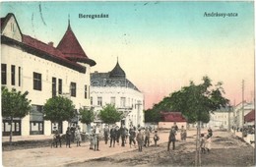
[[[11, 13], [8, 14], [5, 18], [1, 18], [1, 32], [3, 30], [3, 27], [5, 27], [5, 25], [7, 24], [7, 22], [12, 16], [15, 18], [14, 14], [11, 14]], [[18, 24], [17, 26], [19, 28]], [[22, 34], [22, 36], [23, 36], [23, 41], [22, 43], [20, 43], [21, 45], [25, 47], [29, 46], [30, 48], [35, 49], [36, 52], [38, 51], [42, 54], [45, 54], [48, 57], [53, 58], [54, 60], [58, 60], [58, 62], [59, 61], [61, 61], [62, 63], [64, 62], [64, 64], [68, 65], [68, 67], [72, 66], [79, 69], [83, 69], [82, 71], [85, 71], [84, 66], [76, 63], [78, 59], [82, 59], [83, 62], [88, 63], [91, 66], [96, 65], [96, 62], [94, 60], [89, 59], [85, 54], [75, 34], [70, 28], [70, 25], [68, 26], [68, 29], [64, 34], [57, 48], [53, 47], [52, 45], [43, 43], [40, 40], [37, 40], [35, 38], [32, 38], [29, 35]], [[12, 40], [12, 39], [6, 37], [6, 40]], [[13, 42], [18, 42], [18, 41], [13, 41]], [[75, 58], [75, 59], [70, 59], [70, 58]], [[72, 61], [72, 60], [75, 60], [75, 61]]]

